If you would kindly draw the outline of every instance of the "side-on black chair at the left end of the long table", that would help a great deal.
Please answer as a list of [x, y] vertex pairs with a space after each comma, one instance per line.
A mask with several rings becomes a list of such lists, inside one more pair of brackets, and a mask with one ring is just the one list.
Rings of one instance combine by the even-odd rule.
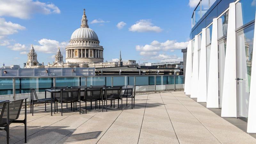
[[[34, 100], [34, 96], [36, 100]], [[34, 104], [45, 104], [45, 111], [46, 111], [46, 103], [51, 103], [51, 98], [44, 98], [44, 99], [38, 99], [36, 90], [34, 88], [30, 88], [30, 113], [32, 109], [32, 116], [34, 116]]]

